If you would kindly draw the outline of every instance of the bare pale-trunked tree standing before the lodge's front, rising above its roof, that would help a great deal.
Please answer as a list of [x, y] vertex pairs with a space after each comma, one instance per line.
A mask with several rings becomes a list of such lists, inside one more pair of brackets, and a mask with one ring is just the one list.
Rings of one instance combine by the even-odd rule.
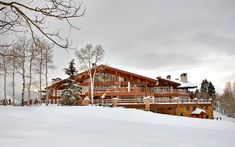
[[90, 89], [91, 89], [91, 104], [94, 104], [94, 79], [96, 74], [96, 66], [98, 62], [102, 61], [104, 57], [104, 49], [101, 45], [93, 47], [92, 44], [87, 44], [85, 48], [81, 48], [75, 52], [77, 59], [79, 60], [79, 66], [81, 70], [88, 71], [90, 77]]

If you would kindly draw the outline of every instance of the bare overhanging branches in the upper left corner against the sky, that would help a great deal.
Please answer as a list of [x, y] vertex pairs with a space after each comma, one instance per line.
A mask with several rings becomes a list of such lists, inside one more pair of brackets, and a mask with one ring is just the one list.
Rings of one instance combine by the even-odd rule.
[[48, 24], [59, 21], [69, 29], [78, 29], [71, 21], [84, 13], [85, 7], [76, 0], [0, 1], [0, 34], [29, 32], [32, 38], [44, 37], [59, 47], [68, 48], [71, 45], [68, 38], [59, 31], [49, 31]]

